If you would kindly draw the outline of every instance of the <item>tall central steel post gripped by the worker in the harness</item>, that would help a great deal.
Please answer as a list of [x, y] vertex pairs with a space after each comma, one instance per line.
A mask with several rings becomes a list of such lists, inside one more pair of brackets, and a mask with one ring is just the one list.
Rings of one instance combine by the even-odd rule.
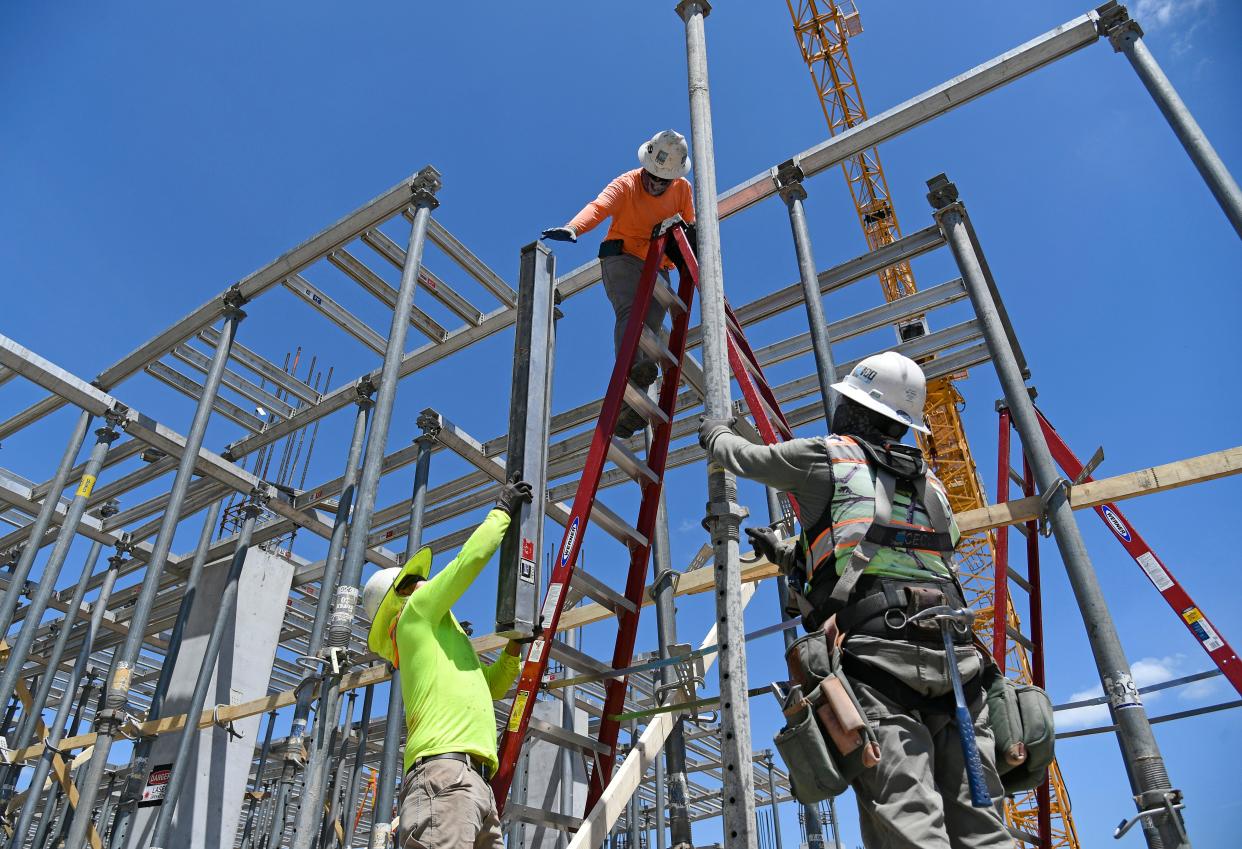
[[[682, 0], [677, 12], [686, 22], [686, 65], [694, 154], [694, 209], [699, 248], [699, 304], [703, 325], [703, 377], [708, 418], [728, 418], [729, 360], [725, 351], [724, 276], [720, 267], [720, 217], [717, 209], [715, 151], [707, 76], [703, 19], [707, 0]], [[720, 802], [724, 843], [730, 849], [755, 849], [755, 776], [750, 755], [750, 703], [746, 694], [746, 642], [741, 607], [738, 528], [746, 515], [738, 504], [738, 483], [723, 467], [708, 464], [708, 526], [715, 549], [715, 607], [719, 629]]]

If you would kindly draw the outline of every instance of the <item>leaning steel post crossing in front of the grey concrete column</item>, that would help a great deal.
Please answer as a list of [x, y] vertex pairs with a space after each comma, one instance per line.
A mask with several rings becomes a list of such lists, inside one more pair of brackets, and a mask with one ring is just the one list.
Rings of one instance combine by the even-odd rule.
[[[190, 704], [186, 705], [185, 727], [181, 729], [176, 741], [175, 755], [171, 758], [171, 767], [168, 776], [168, 784], [164, 788], [164, 803], [159, 807], [159, 815], [155, 818], [155, 828], [152, 830], [150, 849], [164, 849], [169, 845], [168, 838], [173, 830], [173, 814], [176, 812], [176, 803], [185, 787], [185, 778], [190, 771], [196, 768], [195, 761], [190, 757], [190, 750], [199, 736], [199, 716], [207, 703], [207, 690], [211, 689], [211, 679], [216, 673], [216, 660], [220, 658], [220, 645], [224, 643], [225, 628], [237, 604], [237, 583], [241, 581], [242, 567], [246, 565], [246, 552], [250, 550], [251, 535], [255, 532], [255, 521], [263, 513], [266, 496], [255, 492], [250, 495], [243, 510], [241, 534], [237, 537], [237, 547], [233, 549], [232, 562], [229, 565], [229, 575], [225, 580], [225, 588], [220, 597], [214, 600], [217, 604], [215, 622], [211, 623], [211, 633], [207, 634], [207, 644], [202, 652], [202, 665], [199, 667], [199, 676], [194, 681], [194, 693], [190, 695]], [[310, 802], [303, 801], [303, 804]]]

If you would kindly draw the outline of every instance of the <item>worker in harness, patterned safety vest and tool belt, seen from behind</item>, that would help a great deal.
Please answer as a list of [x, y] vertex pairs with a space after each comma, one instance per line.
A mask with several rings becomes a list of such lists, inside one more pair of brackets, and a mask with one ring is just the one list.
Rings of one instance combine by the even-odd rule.
[[1002, 794], [970, 629], [953, 659], [934, 622], [908, 624], [935, 606], [965, 607], [951, 570], [959, 531], [944, 487], [918, 448], [900, 444], [923, 422], [927, 381], [895, 351], [869, 356], [832, 385], [827, 437], [756, 446], [730, 422], [704, 421], [712, 460], [797, 499], [802, 535], [779, 540], [748, 528], [755, 551], [799, 593], [809, 632], [843, 636], [842, 668], [881, 748], [852, 782], [871, 849], [1012, 849], [995, 806], [971, 806], [954, 720], [948, 663], [955, 663], [974, 720], [990, 796]]

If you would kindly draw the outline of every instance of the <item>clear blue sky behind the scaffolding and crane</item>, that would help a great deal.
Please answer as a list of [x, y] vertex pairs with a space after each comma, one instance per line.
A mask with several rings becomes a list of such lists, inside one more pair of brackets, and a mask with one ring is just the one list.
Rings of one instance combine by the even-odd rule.
[[[216, 4], [199, 7], [10, 5], [0, 12], [0, 267], [7, 274], [6, 335], [91, 377], [229, 283], [431, 163], [445, 189], [437, 218], [505, 277], [518, 248], [566, 221], [611, 176], [633, 166], [653, 130], [688, 132], [682, 27], [672, 2], [539, 4], [435, 9], [409, 4]], [[1235, 173], [1242, 166], [1236, 94], [1242, 11], [1226, 0], [1140, 0], [1148, 42]], [[852, 55], [872, 113], [899, 103], [1086, 10], [1042, 4], [869, 2]], [[708, 19], [718, 185], [732, 186], [825, 138], [823, 118], [781, 4], [719, 2]], [[966, 201], [1031, 361], [1045, 411], [1081, 454], [1103, 444], [1100, 474], [1230, 447], [1242, 413], [1231, 340], [1242, 248], [1176, 139], [1128, 67], [1105, 43], [886, 144], [882, 158], [907, 231], [930, 222], [924, 181], [941, 171]], [[864, 249], [840, 173], [807, 185], [821, 268]], [[390, 230], [401, 241], [399, 230]], [[594, 236], [555, 246], [563, 271], [586, 262]], [[776, 201], [723, 225], [725, 288], [744, 303], [796, 279]], [[462, 274], [433, 251], [428, 266]], [[438, 264], [437, 264], [438, 263]], [[915, 262], [923, 285], [955, 276], [944, 252]], [[456, 276], [456, 277], [455, 277]], [[333, 290], [373, 326], [388, 326], [356, 290]], [[479, 298], [482, 300], [482, 298]], [[841, 318], [879, 302], [863, 282], [825, 302]], [[484, 302], [487, 303], [487, 302]], [[250, 310], [238, 339], [279, 359], [297, 345], [335, 367], [340, 385], [375, 356], [284, 292]], [[944, 320], [963, 320], [948, 313]], [[592, 289], [565, 305], [555, 407], [596, 397], [610, 365], [611, 317]], [[801, 333], [791, 312], [756, 341]], [[852, 357], [888, 344], [887, 331], [840, 346]], [[568, 355], [566, 355], [568, 354]], [[436, 406], [479, 438], [504, 427], [512, 336], [477, 345], [402, 384], [390, 449]], [[463, 376], [468, 376], [463, 380]], [[794, 372], [781, 372], [777, 380]], [[987, 487], [995, 484], [1000, 391], [987, 367], [961, 384], [964, 418]], [[145, 377], [117, 390], [181, 429], [190, 406]], [[0, 389], [6, 416], [40, 396]], [[0, 465], [46, 479], [71, 417], [6, 439]], [[309, 480], [335, 477], [349, 422], [328, 420]], [[811, 431], [807, 431], [810, 433]], [[207, 444], [237, 428], [217, 422]], [[456, 477], [451, 459], [432, 480]], [[394, 475], [380, 504], [402, 496]], [[397, 480], [396, 478], [401, 478]], [[1191, 596], [1226, 636], [1242, 632], [1227, 542], [1242, 483], [1217, 482], [1124, 505]], [[137, 499], [140, 495], [134, 496]], [[669, 474], [674, 562], [703, 544], [702, 470]], [[744, 488], [753, 511], [760, 492]], [[610, 503], [625, 505], [621, 496]], [[471, 516], [469, 520], [474, 520]], [[1100, 581], [1136, 670], [1160, 680], [1211, 667], [1125, 552], [1081, 515]], [[183, 524], [176, 551], [197, 536]], [[458, 525], [432, 529], [431, 535]], [[1221, 532], [1225, 530], [1226, 532]], [[587, 537], [587, 566], [620, 568], [620, 550]], [[75, 549], [61, 583], [76, 578]], [[308, 556], [315, 546], [307, 544]], [[1098, 684], [1086, 634], [1054, 547], [1045, 546], [1049, 690], [1056, 701]], [[461, 616], [487, 622], [489, 577]], [[682, 603], [682, 637], [697, 642], [710, 602]], [[775, 616], [771, 588], [748, 627]], [[650, 619], [640, 648], [653, 643]], [[596, 637], [602, 643], [607, 634]], [[590, 636], [587, 639], [592, 639]], [[591, 643], [589, 643], [589, 647]], [[751, 647], [754, 680], [780, 668], [779, 640]], [[1154, 714], [1231, 696], [1217, 679], [1148, 700]], [[777, 717], [755, 703], [756, 748]], [[1093, 725], [1099, 716], [1079, 716]], [[1063, 717], [1074, 721], [1074, 717]], [[1161, 725], [1174, 783], [1187, 794], [1199, 845], [1226, 845], [1242, 757], [1235, 714]], [[1133, 804], [1115, 741], [1059, 748], [1086, 845], [1110, 839]], [[847, 845], [852, 804], [841, 806]], [[786, 835], [796, 833], [791, 807]], [[700, 842], [712, 839], [704, 827]], [[1131, 834], [1123, 845], [1140, 845]]]

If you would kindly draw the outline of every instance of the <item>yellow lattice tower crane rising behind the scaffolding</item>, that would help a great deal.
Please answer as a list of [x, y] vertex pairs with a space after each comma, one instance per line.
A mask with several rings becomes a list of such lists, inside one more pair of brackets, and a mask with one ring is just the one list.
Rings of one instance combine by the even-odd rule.
[[[867, 120], [858, 77], [850, 58], [850, 38], [862, 32], [862, 22], [853, 0], [785, 0], [794, 21], [802, 60], [811, 72], [811, 82], [820, 98], [820, 107], [828, 122], [830, 135], [850, 129]], [[867, 247], [872, 251], [891, 245], [902, 237], [888, 180], [879, 163], [879, 150], [871, 148], [851, 156], [841, 164], [858, 223], [862, 225]], [[917, 290], [909, 263], [893, 266], [879, 274], [887, 300], [903, 298]], [[955, 513], [985, 506], [987, 499], [970, 454], [970, 444], [961, 426], [961, 395], [954, 380], [965, 374], [933, 380], [928, 384], [927, 416], [932, 434], [920, 438], [924, 453], [944, 483]], [[977, 628], [985, 640], [991, 637], [992, 592], [995, 567], [992, 564], [994, 539], [990, 534], [963, 537], [960, 555], [961, 582], [966, 601], [976, 611]], [[1010, 626], [1018, 627], [1018, 617], [1012, 601], [1007, 602]], [[1031, 665], [1026, 649], [1017, 642], [1009, 642], [1010, 669], [1022, 680], [1031, 680]], [[1069, 812], [1069, 796], [1061, 770], [1053, 761], [1049, 776], [1049, 847], [1078, 849], [1078, 834]], [[1038, 833], [1037, 796], [1020, 793], [1006, 803], [1009, 824], [1026, 834]]]

